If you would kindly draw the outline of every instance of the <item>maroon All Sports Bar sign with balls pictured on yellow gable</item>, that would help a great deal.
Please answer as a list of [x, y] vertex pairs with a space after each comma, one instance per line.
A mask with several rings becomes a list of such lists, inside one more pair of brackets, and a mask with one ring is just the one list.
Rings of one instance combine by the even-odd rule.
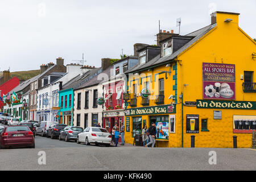
[[203, 98], [236, 99], [236, 70], [234, 64], [203, 63]]

